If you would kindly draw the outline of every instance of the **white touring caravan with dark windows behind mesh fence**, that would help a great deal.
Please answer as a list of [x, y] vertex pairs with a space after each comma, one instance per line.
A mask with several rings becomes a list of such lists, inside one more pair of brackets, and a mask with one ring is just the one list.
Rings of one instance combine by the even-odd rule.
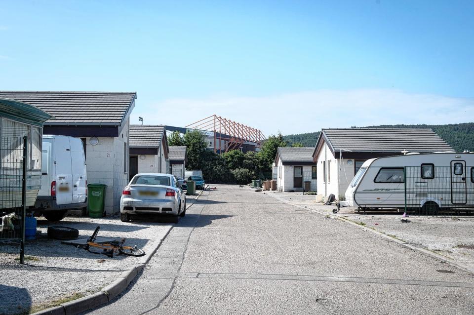
[[474, 154], [409, 153], [365, 161], [346, 191], [350, 206], [474, 208]]

